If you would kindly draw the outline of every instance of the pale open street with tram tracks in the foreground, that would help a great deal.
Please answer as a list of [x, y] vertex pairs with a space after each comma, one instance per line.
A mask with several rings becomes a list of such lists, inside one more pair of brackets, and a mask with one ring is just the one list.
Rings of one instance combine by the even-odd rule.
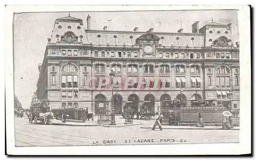
[[141, 126], [65, 126], [29, 124], [15, 118], [16, 146], [80, 146], [131, 144], [238, 143], [239, 130], [164, 129], [155, 131]]

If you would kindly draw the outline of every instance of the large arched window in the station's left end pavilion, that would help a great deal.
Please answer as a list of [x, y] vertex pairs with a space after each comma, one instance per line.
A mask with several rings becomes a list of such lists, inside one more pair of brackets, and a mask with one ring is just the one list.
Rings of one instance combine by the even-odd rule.
[[61, 88], [78, 87], [78, 69], [74, 64], [66, 64], [61, 68]]

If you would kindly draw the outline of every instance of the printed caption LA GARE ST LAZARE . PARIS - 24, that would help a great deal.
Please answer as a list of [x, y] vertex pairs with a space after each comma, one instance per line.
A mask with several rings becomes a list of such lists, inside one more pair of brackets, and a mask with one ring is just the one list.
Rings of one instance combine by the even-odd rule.
[[[158, 142], [169, 142], [169, 143], [186, 143], [186, 139], [127, 139], [124, 140], [123, 143], [158, 143]], [[115, 144], [117, 143], [117, 140], [103, 140], [103, 144]], [[93, 144], [99, 144], [99, 141], [93, 141]]]

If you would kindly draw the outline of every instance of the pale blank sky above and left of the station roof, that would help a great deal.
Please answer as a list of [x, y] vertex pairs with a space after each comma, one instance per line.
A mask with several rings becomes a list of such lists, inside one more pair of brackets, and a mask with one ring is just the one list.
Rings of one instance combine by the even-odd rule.
[[[200, 28], [213, 18], [215, 22], [232, 23], [233, 42], [239, 41], [238, 14], [235, 10], [203, 11], [130, 11], [130, 12], [70, 12], [81, 18], [87, 28], [87, 15], [91, 16], [91, 30], [147, 31], [191, 33], [191, 24], [200, 21]], [[44, 59], [47, 38], [52, 33], [55, 19], [68, 16], [68, 12], [40, 12], [15, 14], [13, 23], [14, 93], [23, 108], [29, 108], [36, 91], [38, 64]]]

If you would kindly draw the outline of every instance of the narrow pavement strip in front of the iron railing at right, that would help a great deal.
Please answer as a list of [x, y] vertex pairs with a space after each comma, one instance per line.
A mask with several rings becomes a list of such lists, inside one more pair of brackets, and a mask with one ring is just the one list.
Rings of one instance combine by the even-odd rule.
[[[146, 129], [149, 129], [149, 128], [152, 128], [152, 126], [149, 126], [149, 125], [145, 125], [145, 126], [142, 126], [140, 128], [146, 128]], [[166, 125], [162, 125], [162, 128], [163, 129], [194, 129], [194, 130], [223, 130], [221, 128], [221, 126], [204, 126], [204, 127], [196, 127], [196, 126], [166, 126]], [[237, 127], [234, 127], [230, 130], [240, 130], [240, 127], [237, 126]]]

